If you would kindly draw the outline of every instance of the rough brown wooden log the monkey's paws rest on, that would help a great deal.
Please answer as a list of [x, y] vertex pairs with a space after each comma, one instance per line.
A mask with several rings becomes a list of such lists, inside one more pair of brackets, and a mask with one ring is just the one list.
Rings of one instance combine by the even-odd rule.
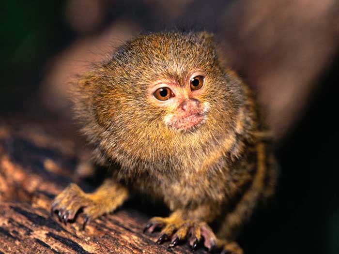
[[168, 249], [154, 244], [157, 235], [142, 233], [148, 218], [138, 207], [102, 216], [85, 231], [81, 215], [67, 225], [51, 217], [53, 197], [77, 181], [71, 177], [77, 158], [70, 147], [70, 141], [41, 129], [12, 131], [0, 124], [0, 254], [191, 253], [185, 245]]

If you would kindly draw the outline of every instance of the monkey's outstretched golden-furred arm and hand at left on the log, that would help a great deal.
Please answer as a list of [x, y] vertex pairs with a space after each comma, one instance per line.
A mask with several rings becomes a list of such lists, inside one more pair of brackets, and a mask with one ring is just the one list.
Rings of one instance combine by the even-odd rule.
[[60, 220], [66, 224], [73, 220], [77, 211], [83, 209], [86, 217], [83, 227], [91, 220], [115, 210], [128, 197], [128, 190], [112, 179], [104, 183], [93, 193], [84, 193], [77, 184], [71, 183], [52, 203], [51, 212], [59, 211]]

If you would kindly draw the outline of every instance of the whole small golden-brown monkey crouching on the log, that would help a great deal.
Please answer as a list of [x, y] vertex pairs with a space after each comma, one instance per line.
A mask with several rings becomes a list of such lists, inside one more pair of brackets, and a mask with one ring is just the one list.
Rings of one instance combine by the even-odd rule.
[[94, 193], [69, 185], [52, 212], [66, 223], [83, 208], [86, 224], [143, 193], [171, 210], [145, 227], [161, 229], [157, 243], [243, 253], [235, 240], [274, 193], [275, 160], [253, 92], [211, 34], [139, 35], [83, 75], [72, 97], [95, 162], [119, 167]]

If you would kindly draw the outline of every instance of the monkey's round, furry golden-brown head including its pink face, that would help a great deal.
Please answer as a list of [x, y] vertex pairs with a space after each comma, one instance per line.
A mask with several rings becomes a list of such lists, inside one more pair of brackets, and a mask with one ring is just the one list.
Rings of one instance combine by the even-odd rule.
[[[235, 128], [241, 81], [226, 72], [206, 32], [163, 32], [127, 42], [83, 77], [77, 115], [109, 158], [161, 167], [207, 153]], [[134, 160], [135, 159], [135, 160]]]

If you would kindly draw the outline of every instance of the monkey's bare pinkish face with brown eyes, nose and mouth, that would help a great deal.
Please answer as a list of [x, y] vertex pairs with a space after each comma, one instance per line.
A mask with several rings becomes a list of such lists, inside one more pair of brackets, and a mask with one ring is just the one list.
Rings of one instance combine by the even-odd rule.
[[200, 100], [204, 91], [205, 74], [194, 72], [180, 85], [175, 80], [159, 80], [148, 91], [150, 103], [168, 112], [164, 123], [176, 130], [189, 131], [197, 128], [206, 117], [208, 102]]

